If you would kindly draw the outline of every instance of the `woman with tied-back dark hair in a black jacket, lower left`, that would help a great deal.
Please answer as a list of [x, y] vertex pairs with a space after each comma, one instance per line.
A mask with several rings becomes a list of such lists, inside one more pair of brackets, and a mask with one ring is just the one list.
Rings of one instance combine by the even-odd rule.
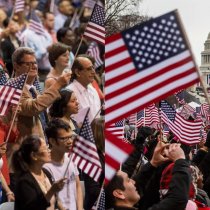
[[14, 152], [12, 164], [17, 176], [15, 210], [55, 210], [56, 204], [60, 210], [64, 209], [59, 201], [56, 202], [55, 194], [63, 188], [65, 178], [52, 184], [42, 169], [50, 161], [46, 142], [35, 135], [26, 137]]

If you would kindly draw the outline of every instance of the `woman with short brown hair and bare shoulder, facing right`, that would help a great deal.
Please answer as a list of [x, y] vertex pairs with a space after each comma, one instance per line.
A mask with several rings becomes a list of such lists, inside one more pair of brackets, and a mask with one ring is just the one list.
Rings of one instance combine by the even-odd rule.
[[62, 75], [63, 70], [69, 66], [70, 50], [69, 46], [59, 42], [48, 48], [49, 62], [53, 68], [46, 77], [45, 89], [49, 88]]

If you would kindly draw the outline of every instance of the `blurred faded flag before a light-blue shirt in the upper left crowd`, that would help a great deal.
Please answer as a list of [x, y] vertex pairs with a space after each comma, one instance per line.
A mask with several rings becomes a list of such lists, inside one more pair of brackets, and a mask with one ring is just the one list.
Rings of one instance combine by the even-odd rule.
[[29, 29], [39, 35], [45, 36], [45, 29], [42, 25], [41, 20], [36, 15], [34, 10], [31, 11], [31, 16], [30, 16], [30, 20], [29, 20]]

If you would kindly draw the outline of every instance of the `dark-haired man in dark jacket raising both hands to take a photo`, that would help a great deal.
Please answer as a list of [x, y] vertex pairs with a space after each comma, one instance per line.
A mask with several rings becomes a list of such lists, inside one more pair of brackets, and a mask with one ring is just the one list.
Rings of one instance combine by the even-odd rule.
[[[167, 196], [148, 210], [184, 210], [188, 202], [190, 170], [180, 144], [171, 144], [169, 146], [159, 142], [155, 148], [152, 160], [145, 165], [145, 168], [142, 169], [142, 175], [138, 178], [144, 180], [144, 185], [146, 186], [149, 182], [148, 174], [167, 160], [175, 163]], [[140, 200], [135, 181], [129, 179], [127, 174], [122, 171], [116, 173], [106, 187], [105, 192], [106, 206], [115, 210], [135, 209], [134, 205]]]

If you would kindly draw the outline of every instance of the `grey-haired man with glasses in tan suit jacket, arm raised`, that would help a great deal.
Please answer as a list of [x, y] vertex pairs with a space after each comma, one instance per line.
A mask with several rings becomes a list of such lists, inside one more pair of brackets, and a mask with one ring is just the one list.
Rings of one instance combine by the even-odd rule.
[[59, 77], [55, 84], [40, 94], [34, 86], [38, 77], [38, 67], [35, 53], [31, 48], [20, 47], [12, 55], [15, 77], [27, 73], [28, 78], [23, 88], [20, 99], [20, 112], [18, 113], [18, 130], [20, 132], [19, 144], [28, 135], [37, 134], [44, 136], [43, 123], [40, 113], [46, 110], [56, 99], [60, 97], [59, 90], [69, 83], [71, 74], [66, 73]]

